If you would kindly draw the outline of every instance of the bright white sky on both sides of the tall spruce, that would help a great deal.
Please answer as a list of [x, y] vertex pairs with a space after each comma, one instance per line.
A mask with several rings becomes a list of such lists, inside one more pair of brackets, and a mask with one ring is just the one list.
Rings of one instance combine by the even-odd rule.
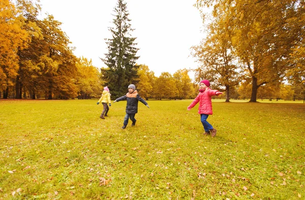
[[[193, 5], [196, 0], [125, 0], [132, 37], [140, 58], [155, 76], [179, 69], [195, 69], [197, 63], [190, 48], [203, 38], [202, 19]], [[62, 22], [74, 54], [92, 59], [98, 68], [106, 67], [99, 58], [108, 53], [105, 38], [111, 39], [108, 27], [113, 27], [117, 0], [41, 0], [42, 18], [45, 13]], [[190, 73], [194, 79], [194, 74]]]

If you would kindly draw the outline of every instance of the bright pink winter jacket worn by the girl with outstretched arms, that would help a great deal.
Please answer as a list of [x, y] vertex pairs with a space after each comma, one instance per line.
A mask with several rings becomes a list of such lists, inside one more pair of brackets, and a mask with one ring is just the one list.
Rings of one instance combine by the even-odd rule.
[[199, 92], [190, 107], [193, 108], [199, 102], [198, 113], [212, 115], [212, 98], [211, 96], [216, 95], [218, 90], [211, 90], [209, 87], [205, 88], [203, 92]]

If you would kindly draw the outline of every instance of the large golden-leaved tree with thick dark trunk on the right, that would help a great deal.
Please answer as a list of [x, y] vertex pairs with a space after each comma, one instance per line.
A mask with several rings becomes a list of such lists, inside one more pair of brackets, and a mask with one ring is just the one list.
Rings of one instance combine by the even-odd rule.
[[197, 0], [198, 7], [212, 4], [214, 17], [230, 24], [234, 52], [252, 78], [250, 102], [256, 102], [259, 87], [283, 80], [290, 53], [303, 43], [305, 4], [300, 0]]

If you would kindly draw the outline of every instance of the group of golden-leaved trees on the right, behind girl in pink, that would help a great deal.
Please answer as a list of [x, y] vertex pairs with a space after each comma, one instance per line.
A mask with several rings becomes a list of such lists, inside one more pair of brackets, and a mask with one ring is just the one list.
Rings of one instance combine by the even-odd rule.
[[193, 47], [197, 81], [209, 79], [226, 102], [236, 94], [305, 101], [304, 1], [197, 0], [196, 7], [207, 32]]

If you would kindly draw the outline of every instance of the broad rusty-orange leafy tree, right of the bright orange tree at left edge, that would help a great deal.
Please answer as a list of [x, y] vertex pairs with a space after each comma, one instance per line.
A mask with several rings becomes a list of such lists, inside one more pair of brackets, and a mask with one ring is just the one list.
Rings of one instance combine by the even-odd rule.
[[[40, 34], [33, 35], [28, 47], [20, 50], [19, 81], [36, 98], [73, 98], [77, 95], [75, 86], [76, 60], [69, 47], [66, 33], [60, 29], [61, 22], [48, 15], [43, 20], [35, 16], [28, 20], [39, 26]], [[18, 84], [16, 84], [18, 85]]]

